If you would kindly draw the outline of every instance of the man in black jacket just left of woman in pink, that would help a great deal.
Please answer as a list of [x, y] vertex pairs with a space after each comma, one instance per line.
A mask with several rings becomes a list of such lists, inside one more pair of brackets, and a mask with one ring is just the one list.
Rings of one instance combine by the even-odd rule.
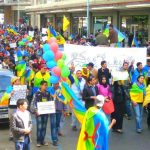
[[87, 85], [83, 89], [83, 100], [85, 101], [85, 108], [89, 109], [94, 106], [96, 96], [98, 95], [98, 88], [95, 86], [95, 78], [90, 76], [87, 79]]

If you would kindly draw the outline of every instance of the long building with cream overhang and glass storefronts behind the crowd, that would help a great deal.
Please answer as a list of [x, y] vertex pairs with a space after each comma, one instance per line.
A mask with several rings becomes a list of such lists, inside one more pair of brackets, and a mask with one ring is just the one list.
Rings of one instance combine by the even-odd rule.
[[112, 23], [120, 30], [150, 39], [150, 0], [32, 0], [26, 7], [31, 24], [45, 27], [50, 22], [62, 30], [63, 15], [70, 20], [69, 33], [84, 34], [89, 2], [89, 31], [96, 33]]

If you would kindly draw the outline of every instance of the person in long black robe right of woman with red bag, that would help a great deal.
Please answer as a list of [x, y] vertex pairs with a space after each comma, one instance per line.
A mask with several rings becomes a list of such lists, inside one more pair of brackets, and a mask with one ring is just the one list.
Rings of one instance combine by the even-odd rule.
[[125, 112], [125, 92], [121, 81], [115, 81], [113, 84], [113, 102], [115, 111], [112, 113], [111, 118], [116, 120], [116, 124], [113, 126], [113, 131], [117, 133], [123, 133], [123, 115]]

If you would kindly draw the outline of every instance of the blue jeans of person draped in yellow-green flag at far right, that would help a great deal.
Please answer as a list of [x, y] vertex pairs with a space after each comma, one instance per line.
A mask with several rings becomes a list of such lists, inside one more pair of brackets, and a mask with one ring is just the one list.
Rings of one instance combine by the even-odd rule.
[[142, 129], [142, 115], [143, 115], [143, 106], [142, 104], [137, 104], [133, 106], [136, 120], [136, 130]]

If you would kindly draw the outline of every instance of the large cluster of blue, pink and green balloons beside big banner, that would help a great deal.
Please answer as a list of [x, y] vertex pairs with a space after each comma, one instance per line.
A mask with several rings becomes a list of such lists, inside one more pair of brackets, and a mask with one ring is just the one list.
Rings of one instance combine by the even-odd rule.
[[43, 45], [43, 59], [47, 67], [51, 70], [50, 82], [58, 83], [61, 79], [70, 75], [69, 67], [65, 65], [66, 55], [58, 50], [56, 38], [52, 37]]

